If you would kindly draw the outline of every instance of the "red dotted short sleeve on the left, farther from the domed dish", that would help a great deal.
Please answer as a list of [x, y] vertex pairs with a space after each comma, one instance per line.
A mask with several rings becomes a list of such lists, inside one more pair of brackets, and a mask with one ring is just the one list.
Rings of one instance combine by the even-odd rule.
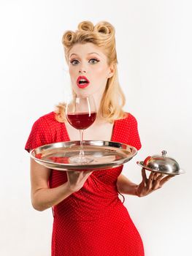
[[31, 149], [34, 149], [49, 143], [52, 143], [50, 127], [49, 127], [49, 124], [47, 123], [47, 120], [41, 117], [34, 122], [34, 125], [31, 129], [31, 133], [26, 142], [25, 149], [26, 151], [29, 152]]

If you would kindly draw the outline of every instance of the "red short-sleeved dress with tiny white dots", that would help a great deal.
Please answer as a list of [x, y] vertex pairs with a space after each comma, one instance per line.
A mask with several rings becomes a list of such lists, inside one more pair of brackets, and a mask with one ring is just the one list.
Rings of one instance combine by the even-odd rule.
[[[52, 112], [34, 123], [26, 150], [69, 140], [65, 124], [56, 121]], [[131, 113], [115, 121], [112, 141], [141, 148]], [[142, 239], [118, 197], [116, 182], [122, 169], [123, 165], [93, 172], [82, 189], [53, 207], [52, 256], [144, 255]], [[52, 170], [50, 188], [66, 181], [66, 172]]]

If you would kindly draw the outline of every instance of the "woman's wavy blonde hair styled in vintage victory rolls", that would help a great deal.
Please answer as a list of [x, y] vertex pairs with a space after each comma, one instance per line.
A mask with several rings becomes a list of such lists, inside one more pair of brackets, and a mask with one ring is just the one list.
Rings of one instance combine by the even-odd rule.
[[[101, 21], [97, 23], [96, 26], [93, 26], [91, 21], [82, 21], [78, 25], [77, 31], [66, 31], [62, 37], [66, 62], [68, 63], [69, 51], [75, 44], [85, 44], [87, 42], [91, 42], [102, 48], [104, 54], [107, 56], [107, 64], [113, 64], [115, 68], [112, 78], [108, 78], [107, 80], [107, 85], [98, 111], [101, 118], [112, 123], [114, 120], [126, 116], [126, 113], [123, 111], [126, 98], [118, 81], [118, 59], [115, 49], [114, 27], [107, 21]], [[72, 93], [75, 95], [74, 91], [72, 91]], [[66, 121], [65, 108], [65, 103], [61, 103], [57, 106], [55, 113], [58, 121]]]

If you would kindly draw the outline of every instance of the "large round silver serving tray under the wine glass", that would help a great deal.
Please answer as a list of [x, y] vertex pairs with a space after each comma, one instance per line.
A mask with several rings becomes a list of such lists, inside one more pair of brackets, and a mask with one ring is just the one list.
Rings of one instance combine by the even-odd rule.
[[39, 146], [30, 151], [30, 156], [40, 165], [55, 170], [101, 170], [118, 167], [130, 161], [137, 149], [123, 143], [84, 140], [83, 150], [85, 157], [93, 157], [93, 162], [88, 164], [75, 164], [69, 162], [80, 152], [80, 140], [51, 143]]

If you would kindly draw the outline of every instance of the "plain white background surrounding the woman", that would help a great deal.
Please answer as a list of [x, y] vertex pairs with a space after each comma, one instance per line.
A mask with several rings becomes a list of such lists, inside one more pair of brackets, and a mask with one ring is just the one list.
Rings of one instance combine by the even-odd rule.
[[[61, 37], [82, 20], [115, 26], [126, 110], [142, 149], [123, 173], [141, 181], [137, 160], [166, 150], [185, 175], [126, 207], [147, 256], [191, 254], [191, 1], [0, 1], [0, 255], [47, 256], [53, 217], [30, 201], [31, 126], [69, 89]], [[75, 242], [75, 241], [74, 241]]]

